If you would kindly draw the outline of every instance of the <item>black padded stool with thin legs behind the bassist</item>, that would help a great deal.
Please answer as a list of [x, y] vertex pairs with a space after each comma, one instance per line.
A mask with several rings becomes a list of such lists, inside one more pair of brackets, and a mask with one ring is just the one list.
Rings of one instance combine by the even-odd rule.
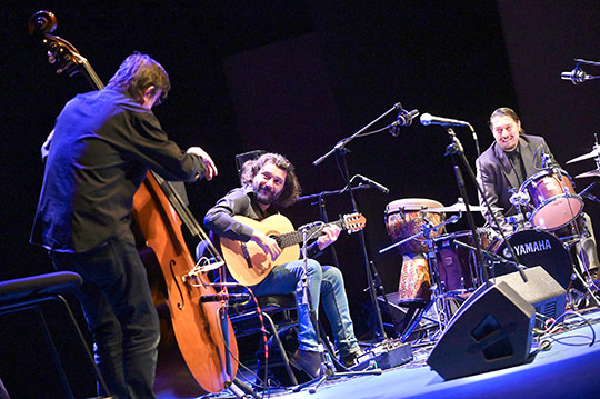
[[[64, 373], [62, 363], [60, 361], [60, 357], [54, 347], [54, 341], [52, 340], [52, 337], [48, 329], [48, 325], [43, 318], [40, 308], [40, 305], [46, 301], [53, 300], [61, 303], [64, 312], [68, 316], [68, 319], [71, 322], [73, 330], [79, 337], [79, 343], [81, 345], [81, 349], [83, 350], [83, 353], [93, 370], [98, 383], [104, 392], [109, 391], [102, 376], [100, 375], [100, 371], [98, 370], [96, 361], [93, 360], [93, 357], [86, 342], [86, 338], [83, 337], [83, 333], [81, 332], [81, 329], [77, 323], [71, 308], [69, 307], [67, 300], [62, 297], [62, 295], [64, 293], [70, 293], [77, 290], [81, 286], [81, 276], [70, 271], [59, 271], [53, 273], [26, 277], [21, 279], [0, 281], [0, 315], [27, 309], [36, 310], [38, 319], [42, 327], [46, 342], [52, 355], [53, 363], [57, 368], [62, 388], [64, 390], [64, 397], [69, 399], [73, 399], [74, 397]], [[103, 398], [108, 399], [114, 397], [109, 396]]]

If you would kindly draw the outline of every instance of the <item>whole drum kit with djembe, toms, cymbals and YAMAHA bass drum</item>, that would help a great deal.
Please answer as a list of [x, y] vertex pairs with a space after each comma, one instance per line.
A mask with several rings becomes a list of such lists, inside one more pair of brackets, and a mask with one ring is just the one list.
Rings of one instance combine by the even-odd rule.
[[[600, 177], [598, 144], [592, 152], [567, 163], [591, 158], [596, 159], [598, 169], [576, 178]], [[576, 193], [571, 177], [557, 167], [546, 168], [527, 179], [516, 194], [520, 198], [517, 206], [520, 217], [511, 218], [512, 233], [506, 239], [491, 228], [478, 228], [476, 237], [471, 230], [447, 233], [446, 226], [458, 221], [467, 211], [460, 198], [449, 207], [424, 198], [399, 199], [388, 203], [384, 222], [393, 245], [383, 248], [380, 253], [397, 248], [402, 256], [398, 305], [409, 309], [420, 308], [421, 317], [433, 306], [437, 323], [443, 330], [460, 303], [486, 283], [484, 267], [487, 275], [493, 278], [514, 272], [518, 265], [528, 268], [542, 266], [566, 290], [579, 278], [598, 303], [589, 278], [582, 276], [588, 273], [587, 267], [577, 270], [572, 261], [578, 256], [577, 245], [589, 237], [589, 231], [581, 215], [583, 199]], [[469, 208], [472, 212], [487, 210], [480, 206]], [[458, 216], [447, 219], [450, 213]], [[509, 245], [512, 250], [509, 250]], [[477, 261], [476, 247], [481, 248], [484, 265]], [[518, 263], [512, 261], [512, 253], [518, 257]], [[593, 282], [591, 286], [597, 290]], [[449, 302], [453, 303], [453, 308]], [[406, 339], [414, 327], [416, 322], [402, 338]]]

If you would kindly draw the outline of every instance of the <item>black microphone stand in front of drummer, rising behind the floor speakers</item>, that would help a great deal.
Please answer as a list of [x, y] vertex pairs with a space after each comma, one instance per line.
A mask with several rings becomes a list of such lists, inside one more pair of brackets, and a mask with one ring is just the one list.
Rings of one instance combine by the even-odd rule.
[[457, 157], [461, 160], [462, 164], [464, 166], [464, 169], [469, 173], [469, 177], [471, 178], [471, 180], [476, 184], [478, 192], [481, 194], [481, 198], [483, 198], [483, 201], [486, 202], [486, 206], [487, 206], [490, 215], [492, 216], [496, 226], [499, 228], [500, 236], [502, 237], [502, 239], [507, 243], [507, 248], [509, 249], [509, 251], [510, 251], [510, 253], [512, 256], [514, 265], [517, 265], [517, 271], [521, 276], [521, 279], [523, 280], [523, 282], [527, 282], [528, 279], [527, 279], [526, 275], [522, 271], [523, 267], [520, 265], [519, 259], [517, 258], [517, 253], [514, 252], [514, 248], [512, 248], [512, 245], [509, 242], [509, 240], [507, 240], [507, 238], [504, 236], [504, 232], [502, 231], [502, 229], [500, 229], [500, 223], [498, 222], [498, 220], [496, 218], [496, 215], [492, 212], [491, 206], [490, 206], [488, 199], [486, 198], [486, 196], [483, 193], [483, 190], [481, 189], [481, 187], [479, 186], [479, 183], [477, 181], [473, 169], [469, 164], [469, 161], [467, 160], [467, 157], [464, 157], [464, 150], [462, 148], [462, 143], [458, 139], [458, 137], [454, 133], [454, 131], [452, 130], [452, 128], [447, 128], [446, 130], [448, 132], [448, 136], [450, 137], [451, 143], [448, 144], [448, 147], [446, 148], [444, 156], [446, 157], [452, 156], [452, 163], [454, 164], [454, 176], [457, 178], [457, 186], [459, 188], [460, 194], [462, 196], [462, 198], [464, 200], [464, 207], [467, 209], [467, 220], [469, 221], [469, 227], [471, 229], [471, 235], [472, 235], [472, 237], [474, 239], [474, 243], [476, 243], [476, 248], [477, 248], [476, 259], [477, 259], [477, 263], [480, 265], [481, 268], [483, 269], [483, 279], [486, 280], [484, 281], [486, 286], [491, 287], [490, 277], [489, 277], [489, 273], [488, 273], [488, 269], [486, 268], [486, 266], [482, 262], [481, 246], [479, 243], [479, 240], [476, 239], [478, 236], [477, 236], [477, 230], [476, 230], [476, 226], [474, 226], [474, 221], [473, 221], [473, 213], [472, 213], [471, 208], [469, 206], [469, 198], [467, 196], [467, 190], [464, 188], [464, 179], [462, 177], [460, 166], [457, 162]]

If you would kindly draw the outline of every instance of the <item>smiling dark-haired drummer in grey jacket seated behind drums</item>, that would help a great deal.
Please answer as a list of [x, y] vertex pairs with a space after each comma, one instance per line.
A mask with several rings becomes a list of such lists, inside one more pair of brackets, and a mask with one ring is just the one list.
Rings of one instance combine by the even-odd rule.
[[[493, 216], [484, 211], [483, 216], [490, 227], [496, 230], [503, 230], [512, 233], [512, 225], [504, 218], [516, 215], [516, 207], [511, 203], [511, 196], [519, 191], [521, 184], [531, 176], [539, 172], [544, 167], [560, 166], [554, 161], [550, 148], [540, 136], [526, 134], [521, 128], [521, 120], [510, 108], [499, 108], [490, 117], [490, 129], [494, 142], [477, 159], [477, 179], [483, 194], [491, 207], [499, 207], [502, 210], [493, 209]], [[479, 202], [486, 206], [481, 193]], [[586, 220], [589, 238], [582, 240], [581, 247], [584, 249], [582, 258], [588, 270], [598, 269], [598, 252], [593, 230], [587, 215]]]

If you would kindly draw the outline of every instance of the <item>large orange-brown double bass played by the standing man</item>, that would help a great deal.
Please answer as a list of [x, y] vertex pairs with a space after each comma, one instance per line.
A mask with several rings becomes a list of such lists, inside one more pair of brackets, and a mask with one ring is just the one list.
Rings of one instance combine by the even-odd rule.
[[[36, 12], [28, 27], [30, 34], [42, 39], [49, 61], [58, 67], [58, 73], [67, 72], [71, 77], [82, 73], [93, 89], [103, 88], [86, 58], [67, 40], [50, 34], [57, 27], [52, 12]], [[172, 184], [152, 171], [133, 197], [133, 218], [160, 265], [161, 273], [158, 275], [162, 275], [160, 283], [149, 281], [151, 287], [164, 287], [164, 292], [152, 290], [159, 315], [163, 313], [160, 308], [167, 307], [170, 317], [170, 320], [161, 320], [161, 345], [163, 339], [174, 335], [179, 352], [196, 383], [208, 392], [220, 392], [236, 378], [238, 346], [222, 305], [201, 301], [204, 296], [217, 295], [217, 289], [199, 271], [181, 225], [184, 223], [192, 236], [210, 241]], [[212, 253], [213, 258], [219, 257], [214, 247]], [[149, 271], [149, 276], [152, 275], [157, 273]], [[163, 330], [169, 327], [172, 333]], [[168, 378], [160, 376], [159, 365], [157, 382]]]

